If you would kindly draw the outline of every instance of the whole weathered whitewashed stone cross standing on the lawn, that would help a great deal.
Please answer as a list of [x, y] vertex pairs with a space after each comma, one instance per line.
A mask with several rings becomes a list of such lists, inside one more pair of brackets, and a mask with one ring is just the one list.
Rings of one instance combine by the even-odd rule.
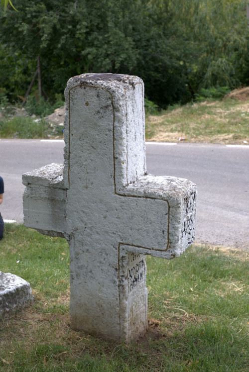
[[143, 90], [135, 76], [71, 78], [64, 166], [23, 175], [24, 224], [69, 243], [71, 327], [125, 342], [147, 329], [145, 255], [178, 257], [195, 232], [196, 185], [146, 173]]

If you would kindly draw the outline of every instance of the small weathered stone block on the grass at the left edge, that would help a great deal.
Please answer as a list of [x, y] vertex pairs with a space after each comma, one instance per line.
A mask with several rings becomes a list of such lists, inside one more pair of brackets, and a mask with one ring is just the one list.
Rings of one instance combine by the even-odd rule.
[[0, 315], [18, 310], [33, 301], [34, 296], [26, 280], [0, 272]]

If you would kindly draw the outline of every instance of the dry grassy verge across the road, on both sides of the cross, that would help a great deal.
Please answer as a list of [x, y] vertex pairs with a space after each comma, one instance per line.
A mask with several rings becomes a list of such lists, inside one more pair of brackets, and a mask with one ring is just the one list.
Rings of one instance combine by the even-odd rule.
[[[44, 107], [38, 107], [40, 111], [43, 110], [41, 112], [46, 112], [45, 104], [43, 102]], [[156, 114], [156, 107], [153, 102], [145, 99], [146, 140], [175, 142], [184, 137], [186, 142], [249, 143], [249, 100], [226, 98], [175, 105], [160, 114]], [[51, 109], [50, 106], [48, 108]], [[31, 117], [17, 116], [9, 120], [5, 115], [0, 120], [0, 138], [62, 137], [62, 128], [52, 128], [44, 119], [34, 121]]]

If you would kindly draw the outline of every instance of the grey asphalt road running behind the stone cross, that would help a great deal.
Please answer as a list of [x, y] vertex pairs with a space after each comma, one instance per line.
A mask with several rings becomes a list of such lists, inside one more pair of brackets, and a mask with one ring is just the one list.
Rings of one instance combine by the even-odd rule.
[[[63, 163], [63, 141], [0, 140], [5, 220], [23, 221], [23, 173]], [[198, 187], [196, 242], [249, 249], [249, 146], [146, 144], [147, 172]]]

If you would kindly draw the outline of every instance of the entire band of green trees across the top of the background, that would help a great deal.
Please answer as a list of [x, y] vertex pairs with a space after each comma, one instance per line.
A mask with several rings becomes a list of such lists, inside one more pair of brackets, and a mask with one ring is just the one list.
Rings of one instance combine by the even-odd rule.
[[[40, 61], [54, 100], [86, 72], [140, 76], [161, 107], [249, 78], [246, 0], [15, 0], [0, 10], [0, 95], [24, 96]], [[33, 92], [37, 90], [37, 79]], [[37, 95], [37, 93], [36, 93]]]

